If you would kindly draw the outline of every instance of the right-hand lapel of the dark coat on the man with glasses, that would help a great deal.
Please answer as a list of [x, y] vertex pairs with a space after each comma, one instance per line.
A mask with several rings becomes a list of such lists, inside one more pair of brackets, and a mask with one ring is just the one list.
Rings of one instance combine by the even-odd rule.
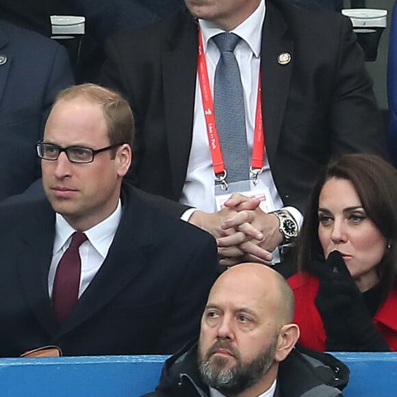
[[152, 231], [153, 228], [150, 211], [140, 207], [140, 203], [140, 199], [131, 191], [123, 199], [123, 216], [107, 257], [79, 298], [71, 316], [60, 326], [56, 337], [61, 337], [94, 316], [146, 266], [142, 250], [150, 248], [151, 236], [146, 231]]

